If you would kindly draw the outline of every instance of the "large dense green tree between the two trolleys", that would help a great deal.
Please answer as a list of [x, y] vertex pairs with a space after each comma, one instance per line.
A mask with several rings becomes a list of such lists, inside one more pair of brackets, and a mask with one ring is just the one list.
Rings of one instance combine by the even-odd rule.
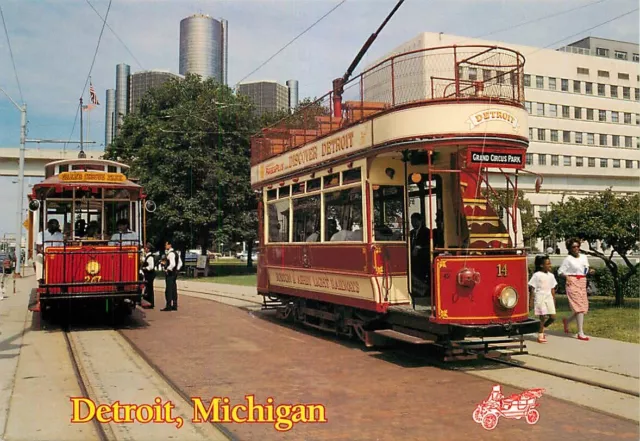
[[[126, 116], [105, 158], [131, 166], [150, 199], [149, 238], [173, 236], [179, 247], [234, 240], [254, 231], [251, 134], [258, 130], [247, 98], [213, 79], [187, 75], [151, 89]], [[253, 214], [253, 218], [250, 213]]]

